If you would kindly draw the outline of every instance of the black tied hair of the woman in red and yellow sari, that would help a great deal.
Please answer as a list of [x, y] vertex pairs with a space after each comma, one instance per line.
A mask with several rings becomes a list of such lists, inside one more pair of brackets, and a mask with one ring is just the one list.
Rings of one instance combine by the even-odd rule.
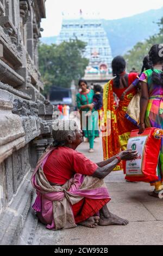
[[112, 60], [112, 75], [116, 76], [114, 79], [115, 87], [120, 86], [120, 80], [122, 80], [122, 83], [124, 87], [127, 87], [127, 82], [124, 77], [120, 77], [120, 75], [126, 70], [126, 61], [122, 56], [117, 56]]

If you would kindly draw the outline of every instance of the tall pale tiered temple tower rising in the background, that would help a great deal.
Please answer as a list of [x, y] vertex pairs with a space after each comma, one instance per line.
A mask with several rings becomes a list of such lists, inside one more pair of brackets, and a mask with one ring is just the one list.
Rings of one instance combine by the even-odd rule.
[[86, 79], [89, 76], [99, 79], [105, 77], [107, 81], [111, 74], [112, 53], [102, 21], [95, 17], [88, 19], [87, 15], [83, 15], [82, 10], [80, 10], [78, 19], [77, 17], [69, 18], [68, 15], [63, 16], [57, 44], [76, 38], [87, 44], [84, 52], [84, 57], [89, 59], [89, 66], [85, 70]]

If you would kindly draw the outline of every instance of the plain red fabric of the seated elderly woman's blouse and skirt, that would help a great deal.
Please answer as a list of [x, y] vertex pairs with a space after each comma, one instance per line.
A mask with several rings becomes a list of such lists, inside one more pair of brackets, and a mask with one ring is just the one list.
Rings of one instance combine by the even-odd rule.
[[[75, 173], [92, 175], [97, 168], [96, 163], [78, 151], [59, 147], [49, 155], [43, 166], [43, 173], [52, 184], [64, 185]], [[96, 200], [83, 198], [78, 203], [71, 205], [75, 222], [80, 223], [93, 215], [97, 215], [97, 212], [109, 200], [110, 198]]]

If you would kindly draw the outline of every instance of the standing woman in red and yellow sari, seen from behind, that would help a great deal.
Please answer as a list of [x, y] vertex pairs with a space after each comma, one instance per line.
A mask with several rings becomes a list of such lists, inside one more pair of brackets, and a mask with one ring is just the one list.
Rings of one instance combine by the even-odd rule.
[[[133, 88], [127, 93], [123, 100], [119, 101], [118, 108], [114, 106], [115, 93], [119, 99], [123, 92], [137, 78], [137, 73], [126, 73], [126, 61], [123, 57], [117, 56], [112, 60], [112, 74], [115, 76], [104, 86], [103, 94], [103, 111], [104, 118], [102, 124], [103, 135], [103, 153], [104, 160], [119, 153], [121, 150], [126, 150], [128, 138], [132, 130], [137, 127], [131, 123], [126, 117], [127, 107], [130, 100], [136, 94], [137, 90]], [[107, 132], [105, 132], [105, 127]], [[118, 164], [116, 170], [123, 169], [122, 163]]]

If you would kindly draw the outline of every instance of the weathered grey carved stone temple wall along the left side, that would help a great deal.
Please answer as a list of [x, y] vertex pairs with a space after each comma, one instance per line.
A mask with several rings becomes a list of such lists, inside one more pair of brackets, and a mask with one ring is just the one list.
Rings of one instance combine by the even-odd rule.
[[[0, 244], [17, 243], [33, 200], [30, 177], [52, 142], [37, 45], [46, 0], [0, 0]], [[3, 52], [2, 52], [3, 49]]]

